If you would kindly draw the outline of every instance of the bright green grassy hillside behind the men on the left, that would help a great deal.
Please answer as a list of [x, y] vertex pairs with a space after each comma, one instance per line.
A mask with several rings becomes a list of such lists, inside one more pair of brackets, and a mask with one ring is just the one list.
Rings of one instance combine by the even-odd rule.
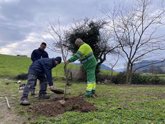
[[[25, 56], [10, 56], [0, 54], [0, 76], [1, 77], [16, 77], [19, 74], [27, 73], [31, 60]], [[64, 75], [64, 64], [58, 65], [53, 69], [52, 73], [54, 77]], [[69, 64], [68, 68], [77, 69], [78, 67]]]

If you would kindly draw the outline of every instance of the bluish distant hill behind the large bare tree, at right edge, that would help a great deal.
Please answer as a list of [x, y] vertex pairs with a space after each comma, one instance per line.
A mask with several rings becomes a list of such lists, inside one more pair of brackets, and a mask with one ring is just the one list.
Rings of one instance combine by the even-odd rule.
[[143, 60], [135, 63], [134, 69], [137, 69], [137, 72], [165, 73], [165, 60]]

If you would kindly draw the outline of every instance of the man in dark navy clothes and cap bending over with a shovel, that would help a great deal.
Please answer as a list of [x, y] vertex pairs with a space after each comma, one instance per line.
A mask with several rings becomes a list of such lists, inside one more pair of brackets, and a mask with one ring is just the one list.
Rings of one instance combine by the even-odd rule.
[[60, 63], [61, 57], [56, 57], [51, 59], [39, 59], [31, 64], [28, 71], [28, 81], [20, 99], [21, 105], [30, 105], [28, 95], [29, 92], [33, 89], [34, 83], [37, 79], [40, 81], [39, 99], [49, 99], [49, 96], [46, 94], [47, 83], [49, 85], [50, 90], [53, 90], [54, 86], [51, 70]]

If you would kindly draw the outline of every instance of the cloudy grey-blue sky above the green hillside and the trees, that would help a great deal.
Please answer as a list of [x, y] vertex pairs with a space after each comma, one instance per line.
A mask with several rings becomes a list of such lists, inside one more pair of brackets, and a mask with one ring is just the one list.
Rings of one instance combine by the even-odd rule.
[[[66, 26], [84, 18], [102, 19], [104, 11], [112, 9], [114, 4], [124, 2], [130, 6], [133, 1], [0, 0], [0, 54], [30, 56], [46, 37], [49, 22], [57, 24], [60, 20]], [[51, 42], [47, 44], [53, 45]], [[48, 48], [46, 51], [50, 57], [59, 55]]]

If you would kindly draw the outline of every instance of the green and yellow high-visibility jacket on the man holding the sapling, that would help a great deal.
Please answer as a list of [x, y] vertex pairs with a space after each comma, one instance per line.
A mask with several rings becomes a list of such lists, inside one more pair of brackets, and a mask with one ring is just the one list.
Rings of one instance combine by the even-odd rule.
[[81, 61], [81, 63], [83, 64], [83, 67], [85, 69], [88, 69], [90, 67], [93, 67], [93, 66], [97, 65], [96, 58], [93, 55], [93, 50], [86, 43], [82, 44], [79, 47], [78, 51], [68, 61], [69, 62], [74, 62], [77, 59], [79, 59]]

